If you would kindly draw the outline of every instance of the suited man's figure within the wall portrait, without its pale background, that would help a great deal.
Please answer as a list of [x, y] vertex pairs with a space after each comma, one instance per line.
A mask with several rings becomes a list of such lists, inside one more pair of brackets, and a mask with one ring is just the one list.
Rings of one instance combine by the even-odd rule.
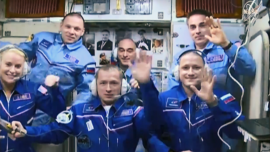
[[110, 31], [104, 29], [101, 31], [102, 40], [97, 42], [97, 50], [113, 50], [113, 42], [110, 40]]

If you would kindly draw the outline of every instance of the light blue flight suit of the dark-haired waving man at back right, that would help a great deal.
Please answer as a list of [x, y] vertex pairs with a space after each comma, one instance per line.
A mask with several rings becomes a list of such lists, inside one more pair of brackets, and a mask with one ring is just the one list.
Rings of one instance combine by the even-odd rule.
[[[229, 91], [233, 96], [241, 94], [241, 88], [236, 84], [232, 78], [229, 77], [228, 68], [231, 63], [234, 61], [235, 53], [237, 50], [237, 46], [235, 43], [229, 50], [223, 50], [222, 47], [213, 44], [212, 42], [208, 42], [205, 49], [202, 51], [206, 57], [206, 63], [213, 70], [213, 74], [217, 76], [217, 81], [215, 84], [215, 88], [224, 89]], [[172, 71], [178, 65], [178, 58], [185, 50], [196, 49], [194, 42], [190, 44], [188, 47], [183, 48], [179, 53], [177, 53], [173, 57], [173, 63], [170, 68], [170, 74], [168, 75], [168, 90], [173, 88], [174, 86], [178, 86], [179, 82], [175, 80], [173, 77]], [[230, 73], [232, 76], [239, 80], [239, 75], [246, 75], [250, 77], [255, 77], [256, 64], [255, 60], [250, 56], [247, 49], [241, 47], [238, 51], [238, 56], [235, 61], [235, 65], [232, 66]]]

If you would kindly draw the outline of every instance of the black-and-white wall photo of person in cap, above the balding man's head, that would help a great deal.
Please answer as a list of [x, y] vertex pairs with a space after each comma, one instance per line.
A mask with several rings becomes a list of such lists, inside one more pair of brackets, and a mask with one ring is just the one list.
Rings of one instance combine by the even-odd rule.
[[136, 42], [137, 48], [142, 50], [151, 50], [151, 39], [152, 39], [152, 29], [138, 29], [135, 34], [136, 29], [134, 29], [134, 35], [132, 39]]

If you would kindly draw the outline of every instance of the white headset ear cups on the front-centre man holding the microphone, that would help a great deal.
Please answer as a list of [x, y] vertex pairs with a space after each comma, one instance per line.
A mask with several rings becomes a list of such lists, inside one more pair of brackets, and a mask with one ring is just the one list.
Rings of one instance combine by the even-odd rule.
[[[91, 84], [89, 85], [89, 89], [91, 90], [91, 93], [93, 96], [98, 96], [98, 90], [97, 90], [97, 81], [94, 79]], [[122, 79], [121, 84], [121, 95], [128, 93], [128, 91], [131, 89], [130, 85], [128, 84], [128, 81], [126, 80], [126, 77], [124, 75], [124, 79]]]

